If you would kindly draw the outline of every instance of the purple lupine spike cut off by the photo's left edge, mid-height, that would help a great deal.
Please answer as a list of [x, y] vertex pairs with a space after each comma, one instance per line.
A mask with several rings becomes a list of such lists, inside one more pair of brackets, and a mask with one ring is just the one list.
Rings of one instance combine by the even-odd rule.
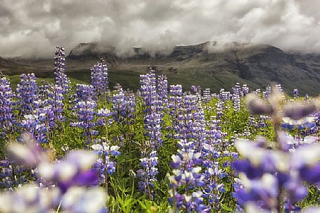
[[0, 138], [13, 133], [15, 129], [14, 97], [8, 78], [0, 78]]

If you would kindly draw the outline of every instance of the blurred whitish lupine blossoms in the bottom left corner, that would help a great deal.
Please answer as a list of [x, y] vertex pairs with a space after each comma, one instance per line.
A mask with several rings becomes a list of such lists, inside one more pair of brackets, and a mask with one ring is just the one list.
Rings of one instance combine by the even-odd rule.
[[50, 213], [61, 210], [68, 213], [107, 213], [105, 203], [105, 193], [97, 188], [72, 187], [62, 195], [57, 188], [38, 188], [28, 184], [17, 191], [1, 193], [0, 212]]

